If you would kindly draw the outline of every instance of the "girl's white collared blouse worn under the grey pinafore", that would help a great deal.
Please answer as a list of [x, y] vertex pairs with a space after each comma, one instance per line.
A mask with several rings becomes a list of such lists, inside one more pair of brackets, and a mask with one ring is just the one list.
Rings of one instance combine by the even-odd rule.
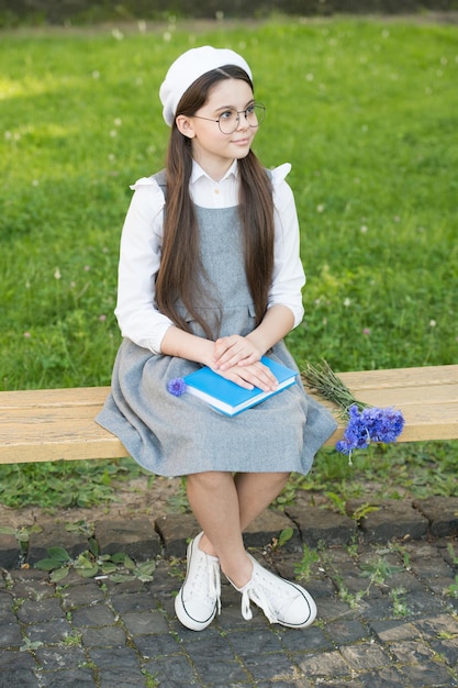
[[[268, 308], [281, 303], [294, 315], [294, 328], [303, 317], [301, 289], [305, 276], [299, 254], [299, 223], [292, 190], [284, 180], [291, 165], [272, 170], [275, 206], [275, 264]], [[155, 302], [155, 278], [160, 264], [164, 193], [153, 177], [138, 179], [125, 218], [120, 249], [115, 315], [123, 337], [160, 353], [163, 337], [174, 323]], [[193, 202], [204, 208], [237, 204], [237, 162], [216, 182], [193, 164], [189, 185]]]

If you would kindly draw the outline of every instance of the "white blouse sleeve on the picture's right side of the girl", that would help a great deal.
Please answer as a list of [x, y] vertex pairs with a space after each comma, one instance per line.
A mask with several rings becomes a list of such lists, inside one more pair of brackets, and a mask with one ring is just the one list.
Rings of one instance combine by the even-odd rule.
[[272, 170], [275, 208], [275, 263], [268, 308], [281, 303], [294, 315], [294, 328], [302, 321], [302, 287], [305, 275], [299, 248], [299, 221], [294, 197], [284, 177], [291, 169], [286, 164]]

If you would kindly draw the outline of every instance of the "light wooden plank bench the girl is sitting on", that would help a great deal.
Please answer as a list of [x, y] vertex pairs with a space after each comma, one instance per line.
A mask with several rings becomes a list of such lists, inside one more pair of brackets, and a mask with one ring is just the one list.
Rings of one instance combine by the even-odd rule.
[[[357, 399], [402, 410], [400, 442], [458, 439], [458, 365], [339, 377]], [[108, 392], [109, 387], [0, 392], [0, 464], [127, 456], [93, 421]], [[335, 444], [343, 430], [340, 424], [327, 444]]]

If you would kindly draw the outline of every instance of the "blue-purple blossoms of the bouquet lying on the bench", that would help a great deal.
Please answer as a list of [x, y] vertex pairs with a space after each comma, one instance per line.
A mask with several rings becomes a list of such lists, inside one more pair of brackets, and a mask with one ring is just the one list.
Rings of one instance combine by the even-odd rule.
[[344, 439], [336, 444], [337, 452], [342, 454], [350, 455], [354, 450], [365, 450], [371, 442], [395, 442], [404, 428], [402, 412], [391, 407], [369, 407], [360, 411], [354, 403], [348, 417]]

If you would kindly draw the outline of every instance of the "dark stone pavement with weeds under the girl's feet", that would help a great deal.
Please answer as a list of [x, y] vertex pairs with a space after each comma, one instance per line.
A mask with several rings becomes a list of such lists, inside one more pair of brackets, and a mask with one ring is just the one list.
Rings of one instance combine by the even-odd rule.
[[16, 539], [0, 535], [0, 688], [458, 686], [458, 498], [377, 507], [348, 504], [350, 518], [299, 500], [246, 533], [267, 567], [306, 578], [319, 615], [304, 630], [270, 625], [254, 606], [244, 621], [227, 584], [211, 626], [182, 628], [174, 595], [198, 532], [189, 515], [94, 524], [102, 552], [157, 559], [148, 582], [71, 572], [51, 584], [34, 568], [48, 547], [88, 547], [83, 529], [56, 519], [30, 533], [22, 568]]

